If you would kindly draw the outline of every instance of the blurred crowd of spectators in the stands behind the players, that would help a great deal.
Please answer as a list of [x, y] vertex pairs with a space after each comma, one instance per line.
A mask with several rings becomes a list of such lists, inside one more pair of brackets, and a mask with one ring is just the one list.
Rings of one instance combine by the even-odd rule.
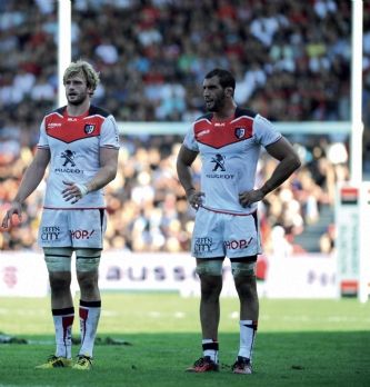
[[[42, 117], [56, 108], [57, 4], [0, 2], [1, 215], [32, 159]], [[370, 2], [363, 14], [363, 143], [370, 150]], [[182, 138], [127, 136], [124, 121], [196, 119], [203, 113], [203, 77], [214, 67], [234, 73], [239, 105], [272, 121], [350, 120], [351, 1], [74, 0], [72, 58], [100, 71], [93, 103], [123, 122], [119, 173], [107, 188], [106, 248], [189, 250], [194, 214], [174, 169]], [[348, 138], [297, 133], [299, 125], [287, 137], [303, 167], [260, 205], [267, 252], [281, 241], [288, 252], [302, 251], [297, 236], [333, 207], [336, 182], [349, 178]], [[257, 186], [273, 163], [262, 153]], [[38, 248], [43, 190], [41, 183], [27, 200], [19, 227], [2, 230], [0, 249]], [[322, 252], [332, 251], [334, 232], [328, 225]]]

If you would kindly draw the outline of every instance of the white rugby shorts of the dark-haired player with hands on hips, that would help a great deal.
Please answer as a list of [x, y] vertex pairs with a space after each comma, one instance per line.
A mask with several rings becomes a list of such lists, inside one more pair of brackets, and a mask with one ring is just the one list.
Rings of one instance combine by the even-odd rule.
[[196, 258], [241, 258], [261, 254], [257, 214], [231, 215], [200, 207], [196, 215], [191, 255]]

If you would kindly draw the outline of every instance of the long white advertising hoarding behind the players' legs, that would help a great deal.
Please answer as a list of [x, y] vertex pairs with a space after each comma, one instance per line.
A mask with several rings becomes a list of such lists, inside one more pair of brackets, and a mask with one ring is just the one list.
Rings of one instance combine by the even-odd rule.
[[[263, 260], [264, 265], [267, 266], [267, 269], [262, 270], [264, 279], [258, 281], [258, 291], [261, 297], [336, 297], [333, 257], [309, 254], [270, 257]], [[41, 252], [2, 252], [0, 274], [0, 296], [49, 295], [48, 272]], [[74, 270], [72, 277], [72, 289], [78, 290]], [[178, 291], [184, 297], [200, 294], [196, 261], [188, 254], [103, 252], [99, 269], [99, 286], [102, 291]], [[221, 296], [237, 297], [228, 259], [223, 267]]]

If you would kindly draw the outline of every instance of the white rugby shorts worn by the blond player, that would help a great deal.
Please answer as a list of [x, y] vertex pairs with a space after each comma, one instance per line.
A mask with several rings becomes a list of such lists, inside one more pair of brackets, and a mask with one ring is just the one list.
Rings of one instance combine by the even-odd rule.
[[102, 249], [106, 228], [103, 209], [43, 209], [38, 242], [40, 247]]

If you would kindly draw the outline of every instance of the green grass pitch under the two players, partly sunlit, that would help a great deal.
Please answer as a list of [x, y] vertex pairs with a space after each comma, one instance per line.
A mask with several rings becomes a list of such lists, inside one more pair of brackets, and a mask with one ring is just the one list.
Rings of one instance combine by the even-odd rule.
[[[29, 344], [0, 345], [0, 386], [370, 386], [369, 302], [262, 298], [253, 375], [229, 368], [239, 346], [237, 299], [221, 299], [222, 366], [209, 374], [184, 371], [201, 355], [198, 298], [104, 292], [102, 305], [99, 339], [127, 345], [97, 345], [89, 373], [37, 370], [34, 365], [54, 350], [50, 301], [2, 298], [0, 331]], [[76, 321], [76, 338], [78, 329]]]

